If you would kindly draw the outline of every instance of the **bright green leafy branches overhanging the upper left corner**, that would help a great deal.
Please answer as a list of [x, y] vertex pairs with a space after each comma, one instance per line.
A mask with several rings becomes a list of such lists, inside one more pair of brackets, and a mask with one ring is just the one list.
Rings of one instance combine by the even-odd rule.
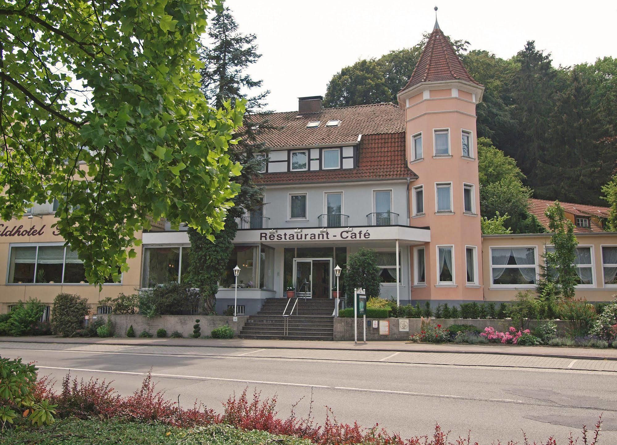
[[244, 110], [215, 110], [199, 91], [212, 9], [17, 0], [0, 10], [0, 216], [60, 200], [56, 230], [90, 283], [120, 278], [152, 219], [210, 237], [223, 228], [241, 169], [226, 151]]

